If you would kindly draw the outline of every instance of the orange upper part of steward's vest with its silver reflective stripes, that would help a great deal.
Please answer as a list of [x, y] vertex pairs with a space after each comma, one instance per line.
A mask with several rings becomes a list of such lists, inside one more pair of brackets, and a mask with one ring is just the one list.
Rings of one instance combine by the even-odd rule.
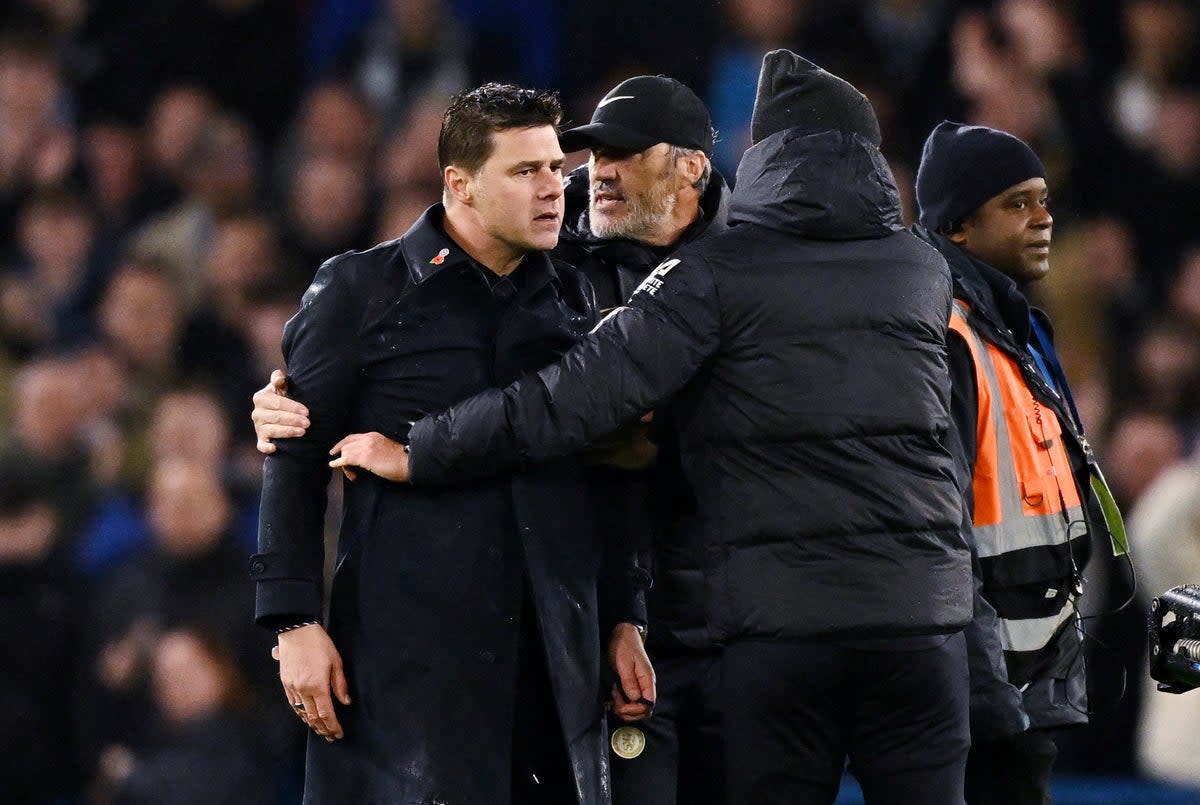
[[954, 300], [950, 329], [971, 348], [978, 390], [976, 551], [1062, 545], [1086, 524], [1058, 415], [1033, 396], [1020, 365], [967, 324], [968, 312]]

